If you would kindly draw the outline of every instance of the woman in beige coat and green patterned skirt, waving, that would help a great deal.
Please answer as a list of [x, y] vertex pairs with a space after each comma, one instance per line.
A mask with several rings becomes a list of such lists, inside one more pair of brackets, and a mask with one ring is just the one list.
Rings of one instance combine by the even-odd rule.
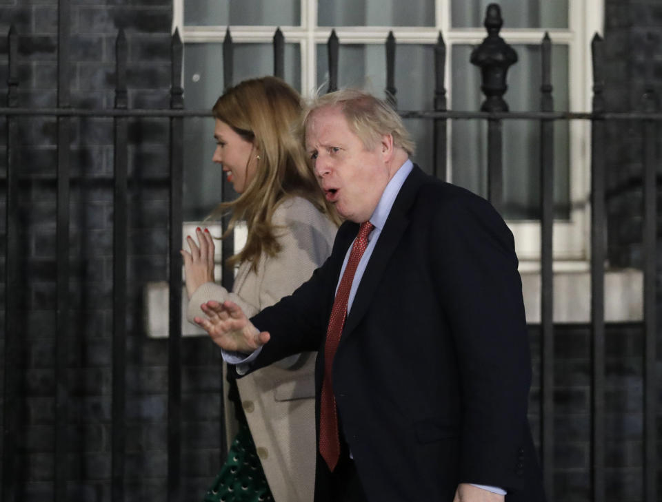
[[[197, 229], [199, 244], [188, 236], [190, 252], [181, 254], [190, 322], [204, 317], [200, 305], [208, 300], [232, 300], [254, 315], [292, 293], [330, 255], [339, 222], [294, 135], [301, 112], [296, 91], [274, 77], [243, 81], [225, 92], [212, 112], [217, 140], [212, 160], [240, 194], [215, 212], [230, 209], [228, 231], [243, 220], [248, 238], [229, 259], [239, 265], [230, 293], [214, 283], [210, 233]], [[239, 379], [237, 386], [240, 401], [235, 404], [241, 404], [236, 412], [243, 426], [234, 436], [232, 405], [226, 406], [228, 443], [234, 441], [205, 501], [221, 500], [221, 495], [226, 502], [265, 501], [271, 494], [277, 502], [312, 501], [314, 355], [283, 359]], [[260, 462], [268, 487], [255, 476]]]

